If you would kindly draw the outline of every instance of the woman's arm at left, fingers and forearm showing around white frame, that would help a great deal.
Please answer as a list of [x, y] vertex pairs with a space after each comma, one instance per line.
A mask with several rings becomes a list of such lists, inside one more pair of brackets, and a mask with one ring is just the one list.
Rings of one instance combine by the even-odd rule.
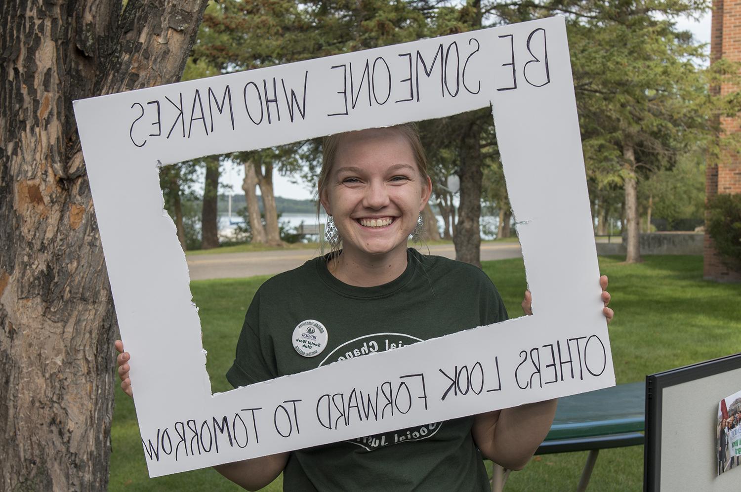
[[[129, 379], [131, 356], [128, 352], [124, 352], [124, 342], [116, 340], [115, 345], [119, 352], [116, 363], [119, 366], [121, 389], [128, 396], [133, 396], [131, 379]], [[278, 453], [270, 456], [260, 456], [259, 458], [216, 465], [213, 468], [240, 487], [246, 488], [248, 491], [256, 491], [273, 482], [280, 475], [288, 462], [289, 454]]]

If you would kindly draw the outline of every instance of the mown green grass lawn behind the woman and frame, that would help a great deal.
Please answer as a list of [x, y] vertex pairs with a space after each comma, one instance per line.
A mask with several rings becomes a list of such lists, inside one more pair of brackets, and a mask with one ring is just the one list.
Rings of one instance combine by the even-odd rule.
[[[646, 374], [734, 353], [741, 347], [737, 318], [738, 285], [702, 280], [700, 256], [646, 256], [640, 265], [600, 257], [602, 273], [616, 311], [610, 339], [618, 383], [641, 381]], [[484, 270], [511, 316], [520, 312], [525, 290], [522, 260], [485, 262]], [[231, 365], [245, 310], [268, 277], [191, 282], [208, 350], [207, 370], [214, 391], [229, 390], [224, 374]], [[111, 430], [111, 491], [241, 490], [212, 469], [147, 477], [133, 402], [116, 390]], [[524, 471], [512, 473], [505, 491], [565, 491], [576, 488], [586, 453], [536, 456]], [[637, 491], [642, 488], [643, 448], [599, 453], [590, 490]], [[266, 491], [280, 491], [280, 479]]]

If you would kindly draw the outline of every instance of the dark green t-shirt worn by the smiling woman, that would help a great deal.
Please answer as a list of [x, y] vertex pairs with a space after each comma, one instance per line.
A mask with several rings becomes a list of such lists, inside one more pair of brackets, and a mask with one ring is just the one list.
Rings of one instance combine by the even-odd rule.
[[[332, 276], [326, 261], [312, 259], [259, 288], [227, 372], [235, 388], [507, 319], [494, 284], [466, 263], [409, 249], [397, 279], [354, 287]], [[308, 319], [328, 333], [314, 357], [293, 348], [293, 329]], [[471, 425], [468, 416], [294, 451], [284, 488], [487, 491]]]

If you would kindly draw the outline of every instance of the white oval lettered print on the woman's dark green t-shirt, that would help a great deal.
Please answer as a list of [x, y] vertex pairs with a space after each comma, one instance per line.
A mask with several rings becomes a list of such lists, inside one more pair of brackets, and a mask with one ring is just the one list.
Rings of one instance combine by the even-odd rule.
[[[412, 345], [416, 342], [422, 342], [422, 339], [417, 338], [416, 336], [405, 335], [404, 333], [373, 333], [372, 335], [359, 336], [358, 338], [345, 342], [332, 350], [332, 352], [319, 363], [319, 367], [331, 364], [332, 362], [365, 356], [368, 355], [368, 353], [385, 352], [386, 350], [401, 348], [406, 345]], [[381, 390], [383, 391], [383, 389], [384, 387], [382, 386]], [[391, 392], [391, 390], [389, 390], [389, 392]], [[387, 406], [389, 410], [393, 412], [393, 405], [388, 403], [388, 398], [390, 398], [390, 396], [376, 395], [371, 398], [371, 395], [366, 395], [366, 398], [360, 402], [360, 405], [364, 412], [382, 412]], [[387, 399], [386, 404], [384, 404], [384, 399]], [[381, 408], [379, 408], [379, 405]], [[435, 435], [441, 426], [442, 422], [433, 422], [431, 424], [419, 425], [413, 428], [393, 430], [391, 432], [374, 434], [373, 436], [350, 439], [345, 442], [358, 445], [361, 448], [364, 448], [365, 451], [375, 451], [376, 449], [388, 445], [427, 439], [428, 437]]]

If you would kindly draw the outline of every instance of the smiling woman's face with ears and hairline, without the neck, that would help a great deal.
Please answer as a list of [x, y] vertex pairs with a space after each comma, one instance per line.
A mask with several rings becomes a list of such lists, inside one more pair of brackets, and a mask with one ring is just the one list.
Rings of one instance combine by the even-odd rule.
[[344, 252], [377, 256], [406, 250], [431, 189], [405, 136], [376, 128], [342, 137], [321, 199]]

